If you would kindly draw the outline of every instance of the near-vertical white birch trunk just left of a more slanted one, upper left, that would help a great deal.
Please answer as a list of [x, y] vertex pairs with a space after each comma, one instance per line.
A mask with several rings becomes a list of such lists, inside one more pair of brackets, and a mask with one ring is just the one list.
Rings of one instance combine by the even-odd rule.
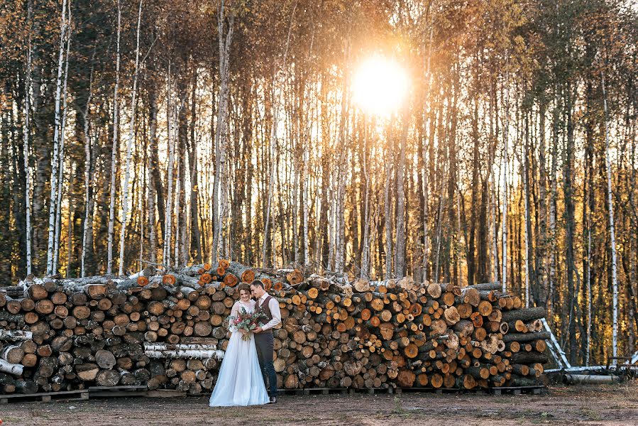
[[115, 62], [115, 88], [113, 92], [113, 145], [111, 146], [111, 197], [109, 201], [109, 231], [106, 243], [106, 273], [113, 272], [113, 234], [115, 222], [115, 183], [116, 183], [116, 155], [118, 150], [119, 110], [117, 92], [120, 82], [120, 35], [122, 27], [122, 8], [120, 0], [117, 1], [117, 50]]

